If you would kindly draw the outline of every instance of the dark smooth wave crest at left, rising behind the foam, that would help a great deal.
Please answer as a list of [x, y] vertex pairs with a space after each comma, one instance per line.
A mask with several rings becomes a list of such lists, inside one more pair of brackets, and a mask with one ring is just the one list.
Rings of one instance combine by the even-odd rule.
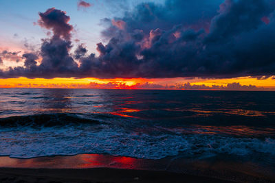
[[52, 127], [80, 123], [96, 124], [100, 123], [100, 121], [95, 119], [87, 119], [85, 117], [81, 117], [80, 114], [72, 113], [33, 114], [28, 116], [15, 116], [0, 119], [0, 126], [2, 127]]

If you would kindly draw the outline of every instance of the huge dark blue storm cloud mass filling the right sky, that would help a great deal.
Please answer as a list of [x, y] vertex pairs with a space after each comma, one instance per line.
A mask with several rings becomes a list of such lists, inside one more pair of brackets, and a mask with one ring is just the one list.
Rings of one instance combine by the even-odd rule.
[[[109, 44], [105, 45], [105, 48], [109, 47], [111, 52], [116, 53], [111, 58], [121, 56], [126, 49], [131, 49], [124, 45], [131, 45], [132, 42], [140, 45], [135, 47], [135, 51], [128, 51], [127, 58], [135, 70], [126, 77], [239, 77], [275, 74], [272, 1], [226, 0], [221, 3], [216, 15], [213, 14], [215, 11], [212, 11], [211, 5], [203, 5], [207, 7], [206, 10], [194, 6], [188, 16], [184, 15], [186, 11], [190, 11], [184, 11], [186, 7], [190, 8], [193, 2], [167, 1], [165, 6], [142, 3], [122, 17], [121, 20], [126, 24], [124, 30], [115, 29], [110, 24], [103, 35], [111, 38]], [[263, 17], [269, 17], [270, 22], [263, 22]], [[209, 27], [204, 26], [208, 20]], [[198, 25], [201, 25], [201, 29], [198, 29]], [[132, 36], [137, 30], [143, 33], [142, 41], [135, 40]], [[114, 39], [118, 40], [116, 45]], [[142, 59], [135, 59], [137, 55]], [[120, 63], [115, 62], [116, 65]], [[126, 69], [131, 67], [126, 66], [124, 70]], [[124, 74], [118, 68], [113, 71], [117, 71], [119, 77]]]

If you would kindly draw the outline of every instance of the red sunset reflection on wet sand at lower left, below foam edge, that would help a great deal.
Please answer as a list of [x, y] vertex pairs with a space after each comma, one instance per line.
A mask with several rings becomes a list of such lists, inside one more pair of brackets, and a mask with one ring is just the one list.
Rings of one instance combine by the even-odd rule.
[[31, 159], [17, 159], [7, 156], [0, 157], [0, 167], [17, 168], [52, 168], [52, 169], [83, 169], [83, 168], [118, 168], [140, 169], [144, 160], [124, 156], [106, 154], [78, 154], [76, 156], [53, 156]]

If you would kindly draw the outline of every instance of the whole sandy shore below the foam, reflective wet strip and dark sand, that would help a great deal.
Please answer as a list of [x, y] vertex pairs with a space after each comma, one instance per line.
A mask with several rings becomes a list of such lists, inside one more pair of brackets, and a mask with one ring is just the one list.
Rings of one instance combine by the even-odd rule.
[[[37, 182], [37, 179], [45, 179], [44, 177], [47, 177], [45, 180], [49, 182], [56, 181], [54, 178], [57, 178], [58, 182], [81, 180], [71, 175], [79, 175], [79, 178], [86, 178], [88, 182], [123, 182], [124, 179], [126, 182], [153, 182], [153, 180], [170, 182], [171, 179], [173, 179], [172, 182], [182, 182], [183, 179], [186, 182], [215, 182], [217, 180], [219, 180], [217, 182], [225, 182], [225, 180], [228, 182], [275, 182], [274, 169], [270, 167], [259, 169], [254, 162], [238, 162], [238, 160], [233, 162], [232, 160], [232, 157], [226, 156], [200, 160], [182, 157], [148, 160], [108, 154], [43, 156], [28, 159], [1, 156], [0, 182], [10, 180], [10, 178], [15, 178], [14, 180], [17, 181]], [[86, 173], [99, 177], [94, 179]], [[111, 180], [106, 179], [105, 174], [110, 175]], [[23, 180], [22, 176], [28, 177], [29, 180]], [[66, 180], [68, 176], [69, 180]], [[133, 178], [139, 179], [133, 180]]]

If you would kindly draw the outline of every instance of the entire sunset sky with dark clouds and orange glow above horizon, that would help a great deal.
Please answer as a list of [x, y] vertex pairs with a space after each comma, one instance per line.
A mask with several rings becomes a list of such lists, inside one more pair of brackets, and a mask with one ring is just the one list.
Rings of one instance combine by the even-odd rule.
[[0, 87], [275, 90], [274, 0], [0, 1]]

